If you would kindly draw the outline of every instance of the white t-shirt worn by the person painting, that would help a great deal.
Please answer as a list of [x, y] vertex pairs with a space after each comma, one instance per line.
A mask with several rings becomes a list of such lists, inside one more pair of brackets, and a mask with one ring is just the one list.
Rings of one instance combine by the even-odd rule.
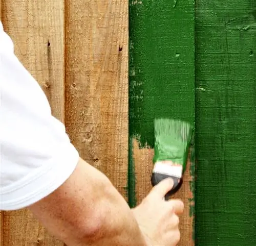
[[49, 195], [78, 160], [65, 126], [14, 55], [0, 21], [0, 210], [24, 208]]

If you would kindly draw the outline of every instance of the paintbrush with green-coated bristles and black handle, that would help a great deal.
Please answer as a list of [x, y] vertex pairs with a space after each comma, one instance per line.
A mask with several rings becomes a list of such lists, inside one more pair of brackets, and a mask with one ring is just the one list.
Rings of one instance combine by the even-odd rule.
[[165, 200], [168, 200], [182, 185], [193, 128], [182, 120], [158, 118], [154, 120], [154, 130], [155, 154], [151, 183], [155, 186], [163, 179], [172, 178], [174, 186], [165, 195]]

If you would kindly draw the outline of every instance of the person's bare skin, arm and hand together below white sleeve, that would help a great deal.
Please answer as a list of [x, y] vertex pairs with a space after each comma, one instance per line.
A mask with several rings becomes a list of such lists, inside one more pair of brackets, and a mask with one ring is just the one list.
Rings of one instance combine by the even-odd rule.
[[69, 179], [29, 209], [68, 246], [166, 245], [180, 240], [182, 201], [164, 201], [166, 179], [130, 209], [110, 180], [80, 159]]

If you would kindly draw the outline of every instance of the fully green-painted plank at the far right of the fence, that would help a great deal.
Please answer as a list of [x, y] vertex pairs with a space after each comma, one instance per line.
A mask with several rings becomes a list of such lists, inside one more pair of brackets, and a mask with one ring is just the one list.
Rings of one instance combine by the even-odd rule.
[[256, 245], [256, 1], [196, 3], [196, 245]]

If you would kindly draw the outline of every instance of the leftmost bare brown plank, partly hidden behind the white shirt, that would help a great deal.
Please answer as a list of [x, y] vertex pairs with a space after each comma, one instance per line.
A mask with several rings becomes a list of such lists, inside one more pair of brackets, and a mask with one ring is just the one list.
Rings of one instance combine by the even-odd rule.
[[[2, 19], [17, 57], [44, 89], [54, 116], [64, 120], [64, 5], [57, 1], [2, 0]], [[3, 244], [62, 246], [27, 210], [4, 213]]]

